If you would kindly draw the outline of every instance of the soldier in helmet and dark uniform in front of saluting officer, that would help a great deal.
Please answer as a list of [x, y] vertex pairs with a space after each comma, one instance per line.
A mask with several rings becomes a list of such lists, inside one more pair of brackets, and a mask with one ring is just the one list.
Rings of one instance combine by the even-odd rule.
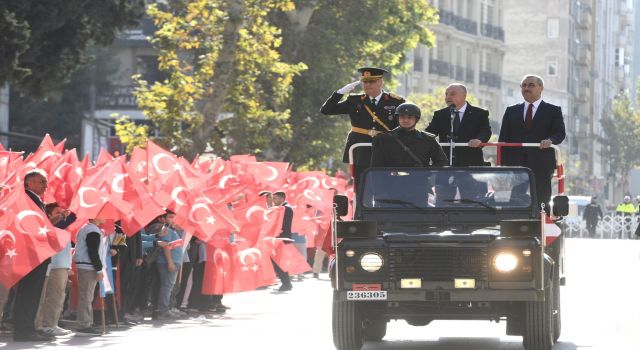
[[416, 130], [420, 108], [403, 103], [395, 110], [398, 127], [373, 138], [371, 166], [420, 167], [444, 166], [447, 156], [435, 135]]

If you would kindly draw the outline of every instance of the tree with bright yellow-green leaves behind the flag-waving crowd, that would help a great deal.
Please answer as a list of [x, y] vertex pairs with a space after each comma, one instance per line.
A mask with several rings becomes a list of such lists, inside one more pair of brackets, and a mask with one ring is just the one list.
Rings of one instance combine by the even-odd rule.
[[138, 77], [136, 98], [160, 143], [187, 156], [207, 147], [228, 155], [291, 137], [284, 102], [306, 66], [282, 62], [280, 31], [268, 19], [291, 7], [288, 0], [176, 0], [148, 8], [167, 78], [150, 85]]

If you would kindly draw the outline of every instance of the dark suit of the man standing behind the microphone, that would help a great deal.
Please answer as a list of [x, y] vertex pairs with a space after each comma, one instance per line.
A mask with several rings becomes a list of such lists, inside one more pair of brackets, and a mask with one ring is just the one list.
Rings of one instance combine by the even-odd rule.
[[[449, 142], [451, 132], [451, 110], [449, 107], [435, 111], [427, 132], [438, 135], [440, 143]], [[467, 102], [467, 108], [462, 116], [460, 127], [458, 128], [458, 139], [456, 142], [469, 142], [478, 139], [488, 142], [491, 138], [491, 126], [489, 125], [489, 111], [472, 106]], [[449, 157], [449, 147], [443, 146], [444, 153]], [[453, 150], [453, 165], [469, 166], [484, 165], [484, 156], [481, 148], [456, 147]]]

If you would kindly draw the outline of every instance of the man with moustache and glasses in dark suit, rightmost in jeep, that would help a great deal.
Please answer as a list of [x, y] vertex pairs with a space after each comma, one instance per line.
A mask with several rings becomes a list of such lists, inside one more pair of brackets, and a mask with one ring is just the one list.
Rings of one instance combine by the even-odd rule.
[[545, 211], [549, 213], [551, 177], [556, 167], [556, 155], [551, 145], [560, 144], [566, 136], [562, 109], [542, 100], [544, 81], [541, 77], [526, 75], [520, 87], [525, 102], [507, 107], [498, 141], [540, 143], [540, 147], [505, 147], [502, 164], [531, 169], [535, 177], [537, 203], [544, 203]]

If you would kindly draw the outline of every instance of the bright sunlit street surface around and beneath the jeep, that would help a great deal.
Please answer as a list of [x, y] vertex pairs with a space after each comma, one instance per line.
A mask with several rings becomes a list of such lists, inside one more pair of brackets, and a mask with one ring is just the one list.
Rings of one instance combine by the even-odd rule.
[[[640, 241], [570, 239], [566, 245], [567, 286], [562, 290], [563, 332], [554, 349], [640, 349]], [[212, 319], [173, 323], [147, 321], [128, 329], [85, 338], [59, 338], [55, 346], [100, 349], [333, 349], [331, 287], [307, 278], [288, 293], [271, 289], [225, 296], [231, 307]], [[391, 322], [383, 342], [365, 350], [522, 349], [505, 323], [439, 321], [412, 327]], [[1, 349], [45, 349], [53, 343], [6, 343]]]

